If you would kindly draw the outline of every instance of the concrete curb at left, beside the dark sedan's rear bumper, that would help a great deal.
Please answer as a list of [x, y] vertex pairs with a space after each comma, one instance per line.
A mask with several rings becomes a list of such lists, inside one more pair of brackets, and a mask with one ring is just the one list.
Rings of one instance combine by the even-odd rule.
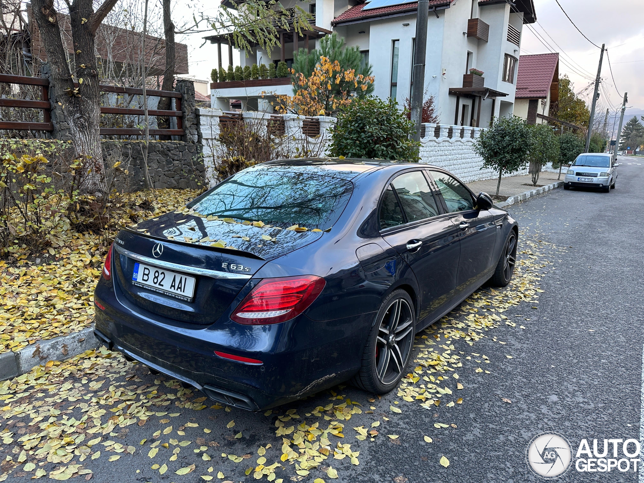
[[68, 336], [54, 337], [28, 345], [18, 352], [0, 354], [0, 381], [25, 374], [47, 361], [64, 361], [86, 350], [100, 346], [94, 336], [94, 325]]

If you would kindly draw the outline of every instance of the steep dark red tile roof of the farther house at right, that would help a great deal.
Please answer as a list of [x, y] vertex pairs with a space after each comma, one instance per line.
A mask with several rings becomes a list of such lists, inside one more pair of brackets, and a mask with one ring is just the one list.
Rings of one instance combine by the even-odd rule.
[[539, 53], [519, 57], [516, 74], [516, 99], [545, 99], [555, 73], [558, 73], [559, 54]]

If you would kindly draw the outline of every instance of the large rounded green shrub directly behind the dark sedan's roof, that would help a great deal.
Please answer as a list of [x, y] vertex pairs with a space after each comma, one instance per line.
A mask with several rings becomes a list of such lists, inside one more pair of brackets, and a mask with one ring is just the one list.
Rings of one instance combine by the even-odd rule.
[[412, 140], [414, 131], [395, 100], [356, 99], [338, 113], [330, 155], [416, 162], [421, 144]]

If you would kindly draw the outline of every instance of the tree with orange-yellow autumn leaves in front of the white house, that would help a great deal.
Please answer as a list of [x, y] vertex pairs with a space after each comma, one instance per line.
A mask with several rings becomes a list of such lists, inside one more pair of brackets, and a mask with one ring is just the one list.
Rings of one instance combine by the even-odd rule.
[[292, 96], [276, 96], [273, 105], [280, 114], [334, 115], [338, 109], [361, 97], [359, 93], [365, 92], [374, 82], [373, 75], [356, 75], [354, 69], [343, 70], [338, 61], [331, 62], [324, 56], [320, 57], [309, 77], [301, 72], [291, 70], [291, 73], [295, 76], [296, 92]]

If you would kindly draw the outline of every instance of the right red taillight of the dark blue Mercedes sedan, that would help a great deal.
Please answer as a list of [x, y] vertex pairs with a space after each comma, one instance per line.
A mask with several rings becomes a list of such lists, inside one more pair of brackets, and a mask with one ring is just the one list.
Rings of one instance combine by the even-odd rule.
[[325, 279], [314, 275], [265, 278], [232, 312], [240, 324], [275, 324], [304, 312], [324, 289]]

